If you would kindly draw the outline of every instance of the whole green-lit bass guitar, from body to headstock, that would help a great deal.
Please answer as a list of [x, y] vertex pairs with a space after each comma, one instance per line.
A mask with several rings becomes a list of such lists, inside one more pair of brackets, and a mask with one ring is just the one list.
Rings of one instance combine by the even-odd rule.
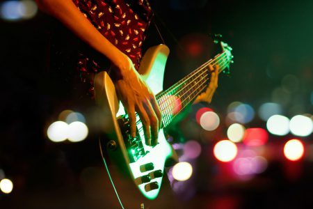
[[[166, 141], [163, 128], [173, 118], [184, 111], [210, 82], [209, 65], [218, 65], [220, 72], [232, 63], [232, 48], [220, 42], [222, 52], [210, 59], [176, 84], [163, 91], [163, 74], [170, 50], [166, 45], [150, 47], [141, 61], [138, 72], [157, 98], [162, 114], [162, 128], [156, 146], [145, 144], [143, 125], [136, 119], [136, 138], [129, 134], [129, 122], [122, 103], [118, 101], [114, 84], [103, 71], [95, 77], [95, 99], [106, 112], [106, 136], [100, 139], [102, 156], [118, 167], [126, 168], [134, 185], [147, 199], [155, 199], [159, 194], [164, 167], [167, 160], [177, 160], [172, 146]], [[104, 160], [105, 162], [105, 160]]]

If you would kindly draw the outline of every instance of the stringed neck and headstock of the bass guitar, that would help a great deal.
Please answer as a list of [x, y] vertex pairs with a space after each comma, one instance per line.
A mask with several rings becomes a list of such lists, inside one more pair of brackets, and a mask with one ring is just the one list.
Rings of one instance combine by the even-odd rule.
[[188, 104], [191, 104], [207, 87], [211, 77], [209, 65], [214, 67], [218, 65], [219, 72], [222, 72], [229, 64], [225, 52], [217, 54], [214, 59], [210, 59], [166, 91], [159, 93], [157, 101], [162, 112], [163, 127], [168, 126], [175, 116], [184, 111]]

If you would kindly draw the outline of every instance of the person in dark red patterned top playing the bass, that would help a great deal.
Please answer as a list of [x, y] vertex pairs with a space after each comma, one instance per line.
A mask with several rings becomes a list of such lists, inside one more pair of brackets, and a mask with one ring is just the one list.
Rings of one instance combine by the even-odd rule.
[[[146, 83], [147, 79], [143, 79], [143, 75], [138, 72], [142, 65], [142, 45], [145, 40], [145, 31], [153, 17], [147, 0], [36, 0], [36, 2], [42, 11], [55, 17], [83, 42], [99, 52], [103, 59], [111, 62], [111, 66], [99, 66], [93, 57], [83, 54], [78, 62], [83, 80], [89, 78], [90, 92], [93, 97], [102, 100], [99, 98], [99, 96], [102, 97], [102, 84], [97, 87], [96, 82], [102, 83], [106, 79], [106, 74], [100, 72], [109, 73], [110, 80], [113, 82], [113, 87], [109, 91], [116, 93], [128, 116], [129, 139], [138, 137], [138, 119], [136, 117], [138, 114], [145, 142], [145, 145], [142, 146], [159, 147], [157, 146], [161, 143], [159, 134], [161, 128], [165, 126], [163, 107], [160, 107], [162, 101], [157, 98], [159, 92], [154, 92]], [[156, 49], [166, 55], [169, 52], [165, 46]], [[156, 54], [150, 53], [152, 57], [157, 56]], [[223, 59], [225, 56], [221, 55], [220, 57]], [[193, 104], [211, 102], [218, 86], [219, 63], [223, 64], [218, 60], [214, 65], [208, 63], [204, 66], [211, 75], [210, 82], [192, 98]], [[88, 68], [90, 65], [93, 65], [93, 69]], [[113, 112], [115, 114], [115, 110]], [[131, 161], [127, 156], [126, 158], [127, 161]], [[136, 160], [132, 161], [136, 162]], [[163, 171], [163, 168], [161, 170]], [[135, 182], [138, 180], [134, 176], [133, 178]], [[142, 189], [147, 190], [147, 187]], [[151, 196], [150, 199], [154, 199], [156, 195]]]

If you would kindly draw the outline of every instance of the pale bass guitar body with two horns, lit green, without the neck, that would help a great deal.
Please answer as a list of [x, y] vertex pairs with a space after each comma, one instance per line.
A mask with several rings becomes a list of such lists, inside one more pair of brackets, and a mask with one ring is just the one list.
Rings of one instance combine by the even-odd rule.
[[[138, 72], [154, 95], [163, 91], [163, 74], [168, 54], [166, 45], [157, 45], [148, 49], [141, 61]], [[129, 144], [128, 127], [126, 125], [123, 130], [121, 124], [127, 123], [127, 119], [121, 119], [125, 116], [124, 107], [118, 101], [114, 84], [106, 72], [99, 72], [95, 77], [95, 98], [106, 120], [103, 132], [107, 137], [100, 139], [102, 156], [108, 156], [112, 164], [122, 171], [122, 175], [128, 175], [145, 198], [155, 199], [161, 187], [166, 160], [173, 158], [177, 161], [177, 155], [166, 141], [163, 129], [159, 131], [159, 144], [152, 148], [145, 145], [142, 125], [138, 123], [136, 138], [143, 153], [136, 155], [136, 148], [131, 149], [133, 146]]]

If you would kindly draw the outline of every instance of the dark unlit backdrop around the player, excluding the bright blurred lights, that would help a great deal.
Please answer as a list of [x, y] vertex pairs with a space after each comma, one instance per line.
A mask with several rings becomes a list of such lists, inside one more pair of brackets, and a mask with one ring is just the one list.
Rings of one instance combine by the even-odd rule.
[[[220, 75], [218, 90], [208, 107], [221, 118], [234, 101], [257, 109], [273, 100], [273, 90], [291, 74], [298, 77], [300, 87], [288, 95], [288, 100], [282, 98], [284, 115], [312, 114], [313, 1], [171, 0], [152, 1], [152, 7], [171, 50], [165, 88], [214, 56], [220, 49], [211, 44], [209, 34], [220, 33], [234, 49], [234, 64], [230, 76]], [[86, 96], [77, 99], [80, 88], [74, 88], [72, 79], [63, 80], [62, 73], [55, 74], [51, 68], [51, 42], [60, 38], [54, 39], [54, 32], [66, 35], [63, 47], [70, 50], [63, 58], [75, 52], [79, 46], [76, 40], [67, 39], [71, 34], [41, 12], [31, 20], [1, 20], [0, 24], [0, 169], [15, 186], [11, 194], [0, 194], [0, 208], [118, 208], [93, 134], [78, 144], [54, 144], [45, 134], [47, 125], [56, 121], [63, 109], [88, 112]], [[161, 43], [153, 25], [148, 33], [145, 47]], [[193, 41], [202, 45], [199, 54], [188, 48]], [[70, 66], [70, 62], [65, 65]], [[73, 75], [70, 70], [64, 73]], [[187, 116], [191, 119], [188, 127], [198, 133], [193, 109]], [[256, 116], [247, 126], [265, 127], [265, 122]], [[189, 139], [182, 127], [186, 123], [171, 132], [177, 141]], [[268, 169], [259, 176], [229, 180], [211, 154], [214, 141], [225, 138], [225, 132], [226, 127], [214, 132], [212, 141], [206, 143], [197, 139], [202, 155], [195, 162], [198, 169], [189, 185], [175, 194], [164, 183], [151, 208], [312, 207], [312, 161], [288, 164], [278, 157], [268, 160]], [[278, 153], [291, 137], [271, 136], [266, 147]], [[312, 134], [303, 140], [310, 145]], [[299, 172], [289, 178], [288, 169]]]

